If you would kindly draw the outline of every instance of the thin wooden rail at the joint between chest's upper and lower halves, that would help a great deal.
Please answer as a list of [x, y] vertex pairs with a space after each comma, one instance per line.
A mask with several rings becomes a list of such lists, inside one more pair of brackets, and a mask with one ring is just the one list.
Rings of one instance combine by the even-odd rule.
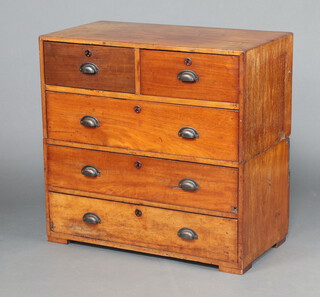
[[46, 139], [45, 141], [46, 143], [53, 144], [53, 145], [85, 148], [85, 149], [97, 150], [97, 151], [103, 151], [103, 152], [130, 154], [135, 156], [146, 156], [146, 157], [160, 158], [160, 159], [167, 159], [167, 160], [179, 160], [179, 161], [200, 163], [200, 164], [228, 166], [233, 168], [239, 167], [238, 162], [231, 162], [231, 161], [224, 161], [224, 160], [204, 159], [204, 158], [198, 158], [194, 156], [181, 156], [181, 155], [169, 155], [169, 154], [164, 155], [162, 153], [153, 153], [153, 152], [138, 151], [138, 150], [131, 150], [131, 149], [129, 150], [129, 149], [116, 148], [116, 147], [107, 147], [107, 146], [101, 146], [101, 145], [85, 144], [85, 143], [62, 141], [62, 140], [55, 140], [55, 139]]

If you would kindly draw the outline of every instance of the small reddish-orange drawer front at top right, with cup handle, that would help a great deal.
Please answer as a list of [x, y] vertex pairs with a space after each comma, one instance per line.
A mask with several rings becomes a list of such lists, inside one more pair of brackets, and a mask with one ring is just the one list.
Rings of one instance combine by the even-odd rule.
[[238, 93], [236, 56], [141, 51], [141, 94], [238, 102]]

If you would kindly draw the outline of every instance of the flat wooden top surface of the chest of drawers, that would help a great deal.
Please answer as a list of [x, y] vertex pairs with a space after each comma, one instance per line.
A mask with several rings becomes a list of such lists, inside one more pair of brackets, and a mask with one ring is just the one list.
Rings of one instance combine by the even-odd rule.
[[100, 21], [41, 36], [43, 40], [240, 55], [287, 33]]

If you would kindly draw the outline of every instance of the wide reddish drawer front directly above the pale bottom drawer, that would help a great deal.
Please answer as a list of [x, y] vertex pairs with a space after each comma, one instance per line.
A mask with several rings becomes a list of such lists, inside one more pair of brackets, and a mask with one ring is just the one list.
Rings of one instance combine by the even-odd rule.
[[234, 168], [54, 145], [47, 153], [51, 186], [225, 213], [237, 206]]

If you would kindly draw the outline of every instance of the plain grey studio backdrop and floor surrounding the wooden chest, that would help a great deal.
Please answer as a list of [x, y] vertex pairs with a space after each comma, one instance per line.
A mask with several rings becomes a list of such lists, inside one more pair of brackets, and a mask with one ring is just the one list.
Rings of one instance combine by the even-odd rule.
[[[243, 276], [46, 242], [38, 41], [97, 20], [292, 31], [290, 231]], [[0, 297], [319, 296], [320, 1], [0, 2]]]

